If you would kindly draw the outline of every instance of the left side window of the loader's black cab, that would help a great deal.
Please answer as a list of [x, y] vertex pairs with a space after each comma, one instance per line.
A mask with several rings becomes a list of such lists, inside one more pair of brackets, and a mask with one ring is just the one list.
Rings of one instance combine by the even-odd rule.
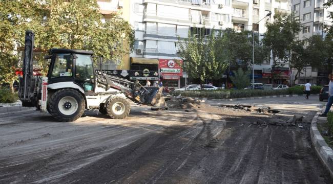
[[72, 77], [73, 56], [71, 54], [57, 54], [54, 61], [51, 78]]

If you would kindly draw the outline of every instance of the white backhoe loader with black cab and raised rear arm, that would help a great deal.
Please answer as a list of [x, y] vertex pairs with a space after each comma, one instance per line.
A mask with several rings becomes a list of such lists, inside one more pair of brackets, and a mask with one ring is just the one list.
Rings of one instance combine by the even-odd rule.
[[[168, 109], [162, 96], [163, 87], [144, 87], [140, 83], [95, 72], [93, 52], [50, 49], [47, 77], [33, 76], [34, 34], [26, 32], [23, 78], [18, 96], [25, 107], [48, 111], [61, 122], [75, 121], [86, 109], [99, 109], [111, 118], [126, 118], [128, 101]], [[101, 67], [102, 58], [99, 66]], [[101, 68], [99, 68], [99, 71]]]

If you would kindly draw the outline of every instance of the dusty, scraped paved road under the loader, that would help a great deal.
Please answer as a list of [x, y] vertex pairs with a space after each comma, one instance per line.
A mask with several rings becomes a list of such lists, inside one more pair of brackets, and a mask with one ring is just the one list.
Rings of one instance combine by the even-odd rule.
[[[274, 106], [282, 119], [308, 120], [323, 104], [317, 97], [228, 103]], [[254, 124], [272, 117], [214, 106], [132, 109], [124, 120], [88, 112], [72, 123], [31, 110], [0, 114], [0, 183], [332, 183], [307, 123]]]

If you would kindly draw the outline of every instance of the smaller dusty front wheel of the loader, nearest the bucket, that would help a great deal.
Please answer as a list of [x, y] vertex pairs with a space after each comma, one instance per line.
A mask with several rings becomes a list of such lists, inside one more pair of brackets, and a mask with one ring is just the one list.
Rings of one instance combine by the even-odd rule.
[[130, 103], [122, 97], [111, 98], [106, 105], [107, 114], [114, 119], [124, 119], [131, 111]]

